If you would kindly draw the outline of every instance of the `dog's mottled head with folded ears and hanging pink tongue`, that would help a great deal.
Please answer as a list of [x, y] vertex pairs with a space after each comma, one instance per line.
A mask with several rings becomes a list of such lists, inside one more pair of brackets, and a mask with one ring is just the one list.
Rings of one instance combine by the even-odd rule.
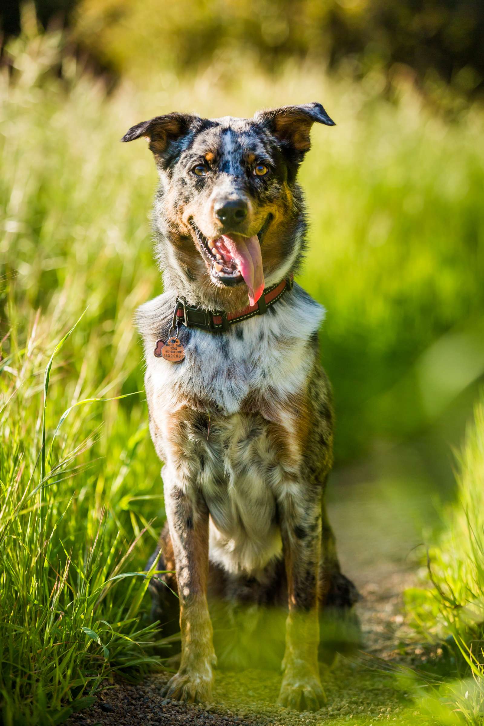
[[301, 244], [295, 179], [315, 122], [334, 126], [319, 103], [249, 119], [168, 113], [123, 136], [149, 140], [161, 181], [157, 226], [193, 284], [247, 285], [253, 304], [290, 272]]

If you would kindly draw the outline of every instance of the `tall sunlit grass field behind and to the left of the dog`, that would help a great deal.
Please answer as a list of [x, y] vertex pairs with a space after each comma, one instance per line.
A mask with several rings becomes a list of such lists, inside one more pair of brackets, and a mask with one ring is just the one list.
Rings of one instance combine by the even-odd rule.
[[[131, 124], [175, 108], [248, 115], [313, 99], [337, 121], [313, 129], [301, 174], [311, 233], [300, 282], [328, 310], [321, 353], [339, 465], [426, 431], [484, 369], [480, 109], [450, 125], [404, 83], [390, 103], [378, 76], [353, 86], [290, 66], [275, 78], [167, 70], [106, 96], [60, 60], [59, 37], [29, 32], [11, 46], [12, 78], [0, 78], [7, 724], [60, 721], [110, 670], [152, 664], [157, 636], [136, 573], [164, 510], [132, 321], [160, 292], [156, 175], [144, 144], [118, 142]], [[49, 73], [60, 62], [62, 80]]]

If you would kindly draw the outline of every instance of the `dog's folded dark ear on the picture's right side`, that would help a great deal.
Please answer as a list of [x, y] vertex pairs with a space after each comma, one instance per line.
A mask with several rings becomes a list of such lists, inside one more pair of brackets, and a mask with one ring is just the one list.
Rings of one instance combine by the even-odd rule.
[[309, 131], [313, 123], [335, 126], [320, 103], [304, 103], [300, 106], [282, 106], [258, 111], [255, 121], [263, 123], [274, 136], [290, 144], [296, 152], [304, 155], [311, 146]]

